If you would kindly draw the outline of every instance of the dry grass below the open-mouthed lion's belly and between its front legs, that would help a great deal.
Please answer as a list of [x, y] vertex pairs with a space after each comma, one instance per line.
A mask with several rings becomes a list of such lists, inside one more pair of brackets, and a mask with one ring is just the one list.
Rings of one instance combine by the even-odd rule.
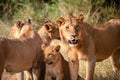
[[[85, 61], [80, 61], [79, 74], [85, 78]], [[120, 80], [120, 75], [112, 70], [110, 59], [96, 63], [94, 80]]]

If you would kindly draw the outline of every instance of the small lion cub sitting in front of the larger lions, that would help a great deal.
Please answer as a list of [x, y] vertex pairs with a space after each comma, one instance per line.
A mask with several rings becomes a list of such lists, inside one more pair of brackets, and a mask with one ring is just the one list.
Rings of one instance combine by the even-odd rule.
[[68, 62], [60, 53], [60, 46], [42, 46], [45, 54], [45, 80], [71, 80]]

